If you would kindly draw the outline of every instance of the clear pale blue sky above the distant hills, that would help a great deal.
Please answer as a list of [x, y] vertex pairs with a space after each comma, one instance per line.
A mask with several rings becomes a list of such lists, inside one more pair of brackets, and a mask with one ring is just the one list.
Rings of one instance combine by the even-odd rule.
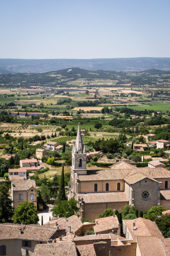
[[0, 58], [170, 57], [169, 0], [0, 0]]

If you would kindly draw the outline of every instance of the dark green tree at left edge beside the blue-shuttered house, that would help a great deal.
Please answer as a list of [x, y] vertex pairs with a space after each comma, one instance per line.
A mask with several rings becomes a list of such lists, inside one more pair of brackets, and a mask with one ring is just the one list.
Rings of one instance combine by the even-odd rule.
[[0, 223], [9, 222], [13, 215], [11, 199], [9, 198], [9, 187], [0, 182]]

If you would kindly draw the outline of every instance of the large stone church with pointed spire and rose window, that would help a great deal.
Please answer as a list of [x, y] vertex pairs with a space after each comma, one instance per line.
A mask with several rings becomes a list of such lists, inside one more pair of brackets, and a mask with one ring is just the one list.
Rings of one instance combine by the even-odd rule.
[[170, 209], [170, 172], [165, 168], [137, 168], [120, 161], [107, 170], [87, 170], [86, 146], [80, 124], [72, 149], [68, 200], [79, 202], [79, 215], [94, 220], [103, 210], [121, 210], [125, 205], [138, 211], [161, 205]]

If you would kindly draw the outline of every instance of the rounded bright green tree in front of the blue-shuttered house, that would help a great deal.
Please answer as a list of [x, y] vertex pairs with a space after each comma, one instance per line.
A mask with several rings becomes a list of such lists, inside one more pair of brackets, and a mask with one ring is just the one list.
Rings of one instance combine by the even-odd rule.
[[32, 202], [18, 204], [14, 209], [13, 220], [18, 224], [37, 224], [39, 218], [36, 206]]

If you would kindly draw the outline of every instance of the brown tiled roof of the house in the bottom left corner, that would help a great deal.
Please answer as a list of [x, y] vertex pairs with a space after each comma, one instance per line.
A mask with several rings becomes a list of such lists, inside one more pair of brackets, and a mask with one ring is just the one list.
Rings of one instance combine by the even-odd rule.
[[[22, 228], [22, 234], [20, 234], [20, 228]], [[57, 234], [57, 229], [53, 227], [12, 223], [0, 224], [0, 240], [24, 239], [43, 242], [55, 234]]]

